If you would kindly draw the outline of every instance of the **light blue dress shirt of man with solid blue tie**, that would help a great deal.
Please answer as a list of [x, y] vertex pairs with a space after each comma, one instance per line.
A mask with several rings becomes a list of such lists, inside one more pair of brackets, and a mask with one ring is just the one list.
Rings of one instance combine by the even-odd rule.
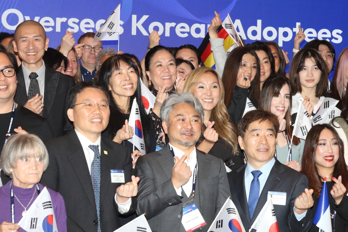
[[[259, 197], [260, 197], [260, 194], [263, 190], [264, 184], [266, 184], [269, 173], [271, 172], [271, 169], [272, 169], [275, 162], [276, 162], [275, 158], [272, 158], [268, 163], [266, 163], [265, 165], [263, 165], [259, 169], [259, 171], [261, 171], [261, 173], [262, 173], [259, 176], [259, 181], [260, 181]], [[251, 185], [252, 180], [254, 179], [254, 176], [251, 172], [254, 170], [256, 170], [256, 169], [253, 168], [248, 162], [246, 165], [246, 168], [245, 168], [245, 173], [244, 173], [245, 193], [246, 193], [246, 200], [248, 202], [249, 202], [250, 185]], [[295, 217], [298, 221], [301, 221], [301, 219], [306, 216], [306, 213], [307, 213], [307, 211], [304, 212], [303, 214], [296, 214], [295, 213], [295, 206], [294, 206], [294, 214], [295, 214]]]

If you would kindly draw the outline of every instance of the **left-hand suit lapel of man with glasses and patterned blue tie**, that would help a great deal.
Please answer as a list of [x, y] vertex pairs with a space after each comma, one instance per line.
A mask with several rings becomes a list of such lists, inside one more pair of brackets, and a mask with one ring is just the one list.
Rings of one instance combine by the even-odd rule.
[[82, 186], [87, 194], [87, 197], [92, 205], [92, 208], [97, 215], [97, 208], [95, 205], [94, 191], [92, 180], [90, 178], [90, 173], [88, 170], [88, 165], [83, 151], [82, 145], [79, 141], [79, 138], [76, 135], [76, 132], [73, 130], [69, 134], [69, 149], [72, 153], [69, 154], [70, 162], [80, 179]]

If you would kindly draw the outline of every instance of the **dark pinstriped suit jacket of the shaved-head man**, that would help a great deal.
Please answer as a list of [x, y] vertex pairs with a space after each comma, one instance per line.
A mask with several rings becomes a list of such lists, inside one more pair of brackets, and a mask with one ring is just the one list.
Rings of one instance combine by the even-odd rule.
[[[15, 102], [24, 106], [28, 101], [28, 95], [26, 93], [22, 65], [18, 68], [17, 81]], [[55, 138], [62, 136], [64, 130], [72, 128], [66, 112], [69, 109], [69, 90], [74, 85], [75, 82], [72, 77], [46, 66], [44, 110], [42, 111], [42, 117], [47, 119]]]

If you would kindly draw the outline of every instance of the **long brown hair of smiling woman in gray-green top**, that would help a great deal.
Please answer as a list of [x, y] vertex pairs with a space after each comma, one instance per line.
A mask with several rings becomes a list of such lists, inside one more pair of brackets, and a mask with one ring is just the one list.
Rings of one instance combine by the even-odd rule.
[[[280, 93], [280, 90], [282, 90], [283, 86], [288, 85], [290, 89], [290, 104], [289, 108], [287, 109], [285, 113], [285, 120], [286, 120], [286, 132], [288, 136], [291, 138], [292, 136], [292, 126], [290, 125], [291, 122], [291, 103], [292, 103], [292, 96], [291, 96], [291, 86], [290, 86], [290, 81], [282, 77], [280, 75], [274, 75], [269, 77], [263, 84], [263, 88], [260, 93], [260, 105], [259, 105], [259, 110], [266, 110], [268, 112], [271, 112], [271, 103], [272, 99], [275, 96], [278, 96]], [[292, 143], [294, 145], [299, 145], [300, 139], [296, 136], [294, 136]]]

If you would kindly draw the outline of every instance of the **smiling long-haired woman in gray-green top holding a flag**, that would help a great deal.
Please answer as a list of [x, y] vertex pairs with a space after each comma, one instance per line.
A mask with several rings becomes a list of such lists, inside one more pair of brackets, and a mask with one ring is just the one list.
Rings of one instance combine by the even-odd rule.
[[[279, 132], [275, 158], [297, 171], [301, 170], [301, 160], [304, 141], [294, 136], [291, 149], [290, 141], [293, 127], [291, 125], [291, 87], [287, 78], [275, 75], [269, 77], [263, 84], [260, 94], [259, 110], [265, 110], [276, 115], [279, 120]], [[290, 149], [290, 154], [289, 154]]]

